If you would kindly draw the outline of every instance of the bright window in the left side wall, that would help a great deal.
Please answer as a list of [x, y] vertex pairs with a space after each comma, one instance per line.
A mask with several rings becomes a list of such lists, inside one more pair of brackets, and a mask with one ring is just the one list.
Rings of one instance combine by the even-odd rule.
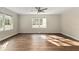
[[11, 16], [0, 15], [0, 31], [13, 29], [13, 20]]

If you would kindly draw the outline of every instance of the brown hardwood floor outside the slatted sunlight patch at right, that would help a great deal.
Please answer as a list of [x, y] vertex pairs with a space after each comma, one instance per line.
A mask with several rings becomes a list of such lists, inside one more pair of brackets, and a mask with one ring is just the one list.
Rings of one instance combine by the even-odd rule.
[[79, 46], [56, 46], [50, 43], [48, 41], [49, 35], [74, 40], [62, 34], [18, 34], [1, 41], [0, 51], [79, 51]]

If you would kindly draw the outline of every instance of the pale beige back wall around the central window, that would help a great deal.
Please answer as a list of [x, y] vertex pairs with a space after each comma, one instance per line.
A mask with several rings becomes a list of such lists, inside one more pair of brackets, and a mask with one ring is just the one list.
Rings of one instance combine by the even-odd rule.
[[47, 18], [47, 28], [34, 29], [32, 28], [32, 17], [36, 15], [20, 15], [19, 32], [20, 33], [59, 33], [59, 15], [39, 15], [38, 17]]

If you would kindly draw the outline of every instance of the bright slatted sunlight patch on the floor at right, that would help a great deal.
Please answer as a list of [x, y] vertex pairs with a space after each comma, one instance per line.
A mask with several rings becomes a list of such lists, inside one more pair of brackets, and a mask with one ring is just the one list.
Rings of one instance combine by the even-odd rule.
[[79, 46], [78, 41], [66, 39], [57, 35], [49, 35], [48, 41], [56, 46]]

